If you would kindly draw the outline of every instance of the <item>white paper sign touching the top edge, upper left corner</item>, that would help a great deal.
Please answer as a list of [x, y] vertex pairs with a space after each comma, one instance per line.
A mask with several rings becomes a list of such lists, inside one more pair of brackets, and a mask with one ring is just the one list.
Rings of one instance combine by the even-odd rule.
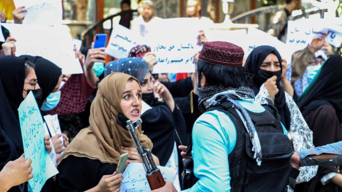
[[25, 6], [23, 24], [52, 26], [63, 19], [62, 0], [14, 0], [15, 7]]

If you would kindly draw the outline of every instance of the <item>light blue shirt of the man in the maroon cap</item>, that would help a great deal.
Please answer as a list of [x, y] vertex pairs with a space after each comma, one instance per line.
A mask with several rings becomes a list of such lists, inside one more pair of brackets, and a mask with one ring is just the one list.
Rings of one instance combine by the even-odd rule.
[[[254, 100], [239, 100], [245, 109], [261, 113], [265, 111]], [[287, 134], [283, 126], [284, 133]], [[196, 184], [183, 192], [230, 191], [228, 154], [236, 143], [236, 128], [229, 116], [214, 110], [203, 113], [195, 122], [192, 132], [194, 174]]]

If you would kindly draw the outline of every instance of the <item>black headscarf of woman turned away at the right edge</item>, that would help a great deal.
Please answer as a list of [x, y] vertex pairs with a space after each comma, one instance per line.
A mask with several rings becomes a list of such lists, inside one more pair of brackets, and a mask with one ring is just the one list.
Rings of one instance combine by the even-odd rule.
[[299, 98], [298, 107], [305, 117], [321, 105], [332, 105], [342, 123], [342, 57], [332, 55], [318, 76]]

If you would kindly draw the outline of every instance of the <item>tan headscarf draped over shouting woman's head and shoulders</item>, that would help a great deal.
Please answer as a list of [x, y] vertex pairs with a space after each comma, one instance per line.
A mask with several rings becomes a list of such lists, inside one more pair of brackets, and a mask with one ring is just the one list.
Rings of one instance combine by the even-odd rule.
[[[117, 164], [122, 154], [121, 146], [135, 147], [126, 127], [116, 122], [119, 112], [122, 113], [122, 93], [130, 78], [139, 83], [134, 77], [119, 72], [111, 73], [101, 81], [90, 108], [90, 126], [76, 135], [58, 164], [69, 155]], [[141, 125], [136, 133], [142, 146], [152, 149], [152, 142], [142, 133]]]

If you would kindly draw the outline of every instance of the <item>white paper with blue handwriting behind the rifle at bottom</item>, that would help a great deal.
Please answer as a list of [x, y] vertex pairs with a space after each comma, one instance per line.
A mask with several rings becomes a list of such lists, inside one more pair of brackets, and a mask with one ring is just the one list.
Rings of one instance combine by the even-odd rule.
[[[176, 171], [173, 168], [157, 166], [164, 179], [170, 180], [174, 183], [176, 177], [178, 177]], [[123, 180], [121, 181], [121, 191], [124, 192], [149, 192], [151, 191], [146, 172], [142, 163], [130, 163], [126, 170], [123, 172]], [[177, 187], [176, 187], [177, 188]]]

